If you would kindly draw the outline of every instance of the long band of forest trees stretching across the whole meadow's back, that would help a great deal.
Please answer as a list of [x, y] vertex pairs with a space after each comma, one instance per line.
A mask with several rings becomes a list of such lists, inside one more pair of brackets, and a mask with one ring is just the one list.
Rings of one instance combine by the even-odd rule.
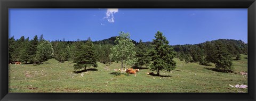
[[[186, 63], [199, 62], [201, 65], [210, 65], [209, 62], [212, 62], [215, 63], [216, 68], [224, 69], [225, 72], [232, 72], [231, 58], [236, 57], [236, 60], [239, 60], [241, 58], [240, 54], [247, 55], [247, 44], [242, 40], [218, 39], [195, 45], [170, 46], [168, 45], [169, 41], [166, 39], [161, 40], [162, 42], [156, 39], [153, 39], [152, 42], [142, 42], [142, 40], [137, 42], [130, 39], [129, 33], [121, 33], [120, 36], [100, 41], [91, 41], [89, 38], [87, 40], [78, 39], [76, 41], [65, 41], [65, 39], [63, 39], [50, 42], [45, 40], [43, 35], [39, 38], [35, 36], [31, 40], [29, 40], [29, 38], [25, 39], [24, 36], [15, 40], [13, 36], [9, 38], [9, 63], [23, 62], [26, 64], [41, 64], [50, 58], [55, 58], [55, 60], [60, 63], [69, 60], [74, 61], [76, 64], [87, 63], [87, 65], [76, 65], [75, 67], [78, 68], [75, 69], [88, 66], [97, 67], [95, 61], [104, 64], [121, 61], [122, 63], [133, 64], [138, 67], [143, 65], [149, 66], [151, 62], [154, 62], [155, 64], [153, 63], [151, 66], [156, 67], [156, 64], [164, 64], [163, 58], [165, 58], [165, 55], [163, 54], [167, 53], [159, 53], [163, 51], [172, 54], [168, 56], [168, 58], [176, 57]], [[155, 37], [161, 39], [164, 36], [162, 32], [158, 31]], [[161, 44], [164, 41], [166, 42], [163, 46], [157, 46], [158, 44], [156, 43]], [[162, 47], [165, 47], [166, 50], [161, 49]], [[130, 53], [124, 54], [127, 51], [130, 51]], [[157, 57], [159, 55], [156, 54], [163, 55], [161, 57], [162, 59]], [[127, 57], [129, 57], [129, 59], [127, 59]], [[172, 59], [169, 60], [168, 58], [166, 57], [164, 60], [175, 64]], [[95, 61], [90, 62], [90, 60]], [[225, 69], [223, 65], [228, 65], [225, 66], [228, 67], [228, 69]]]

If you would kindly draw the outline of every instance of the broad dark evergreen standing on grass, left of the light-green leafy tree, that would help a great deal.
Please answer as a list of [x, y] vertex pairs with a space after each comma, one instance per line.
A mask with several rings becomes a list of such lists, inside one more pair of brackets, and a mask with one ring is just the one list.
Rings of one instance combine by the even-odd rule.
[[98, 67], [96, 57], [95, 57], [95, 49], [91, 39], [89, 38], [85, 44], [81, 41], [78, 41], [75, 49], [75, 57], [74, 57], [74, 69], [82, 69], [86, 70], [86, 68], [93, 66], [94, 68]]

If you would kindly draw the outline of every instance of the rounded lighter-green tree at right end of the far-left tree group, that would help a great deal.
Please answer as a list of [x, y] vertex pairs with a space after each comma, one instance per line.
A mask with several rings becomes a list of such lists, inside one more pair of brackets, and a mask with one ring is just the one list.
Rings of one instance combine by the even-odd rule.
[[34, 64], [42, 64], [42, 62], [47, 61], [54, 56], [53, 47], [49, 41], [42, 40], [36, 48], [37, 51], [34, 57]]

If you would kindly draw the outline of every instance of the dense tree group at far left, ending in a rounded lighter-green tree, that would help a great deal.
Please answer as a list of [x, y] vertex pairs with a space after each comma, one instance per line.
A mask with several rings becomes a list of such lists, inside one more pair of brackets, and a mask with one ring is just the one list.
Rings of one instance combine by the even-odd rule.
[[9, 38], [9, 63], [38, 64], [53, 56], [53, 47], [49, 41], [43, 39], [43, 35], [39, 39], [35, 36], [32, 40], [29, 40], [29, 37], [25, 39], [24, 36], [17, 40], [14, 36]]

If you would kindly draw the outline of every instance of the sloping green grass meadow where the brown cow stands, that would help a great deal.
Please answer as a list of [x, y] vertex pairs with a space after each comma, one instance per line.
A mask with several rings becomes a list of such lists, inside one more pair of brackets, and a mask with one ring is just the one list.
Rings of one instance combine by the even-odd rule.
[[37, 66], [10, 64], [9, 92], [247, 92], [247, 88], [229, 86], [247, 85], [247, 76], [238, 73], [247, 72], [244, 57], [247, 55], [233, 61], [235, 73], [217, 72], [214, 65], [185, 63], [175, 58], [177, 68], [161, 71], [162, 77], [147, 75], [151, 72], [147, 68], [141, 69], [136, 77], [115, 72], [114, 69], [121, 68], [120, 62], [98, 63], [98, 68], [87, 68], [86, 72], [75, 72], [71, 61], [58, 63], [54, 59]]

